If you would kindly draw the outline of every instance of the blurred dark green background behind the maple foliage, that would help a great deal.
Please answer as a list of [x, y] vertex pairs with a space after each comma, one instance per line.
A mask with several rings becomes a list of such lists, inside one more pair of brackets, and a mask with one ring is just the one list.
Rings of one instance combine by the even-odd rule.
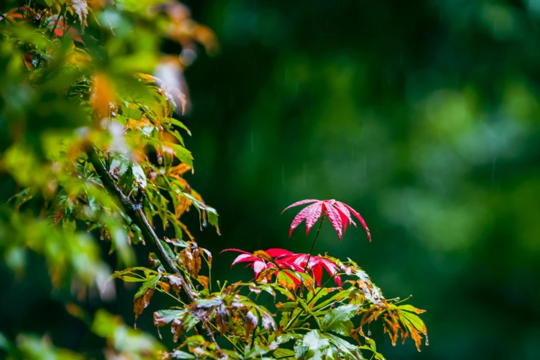
[[[540, 1], [185, 3], [221, 45], [186, 72], [188, 181], [220, 214], [221, 236], [194, 232], [213, 277], [250, 278], [223, 248], [308, 252], [314, 234], [289, 239], [295, 212], [279, 213], [337, 199], [373, 241], [361, 228], [339, 241], [325, 224], [316, 251], [428, 310], [421, 353], [373, 331], [388, 359], [540, 359]], [[198, 228], [197, 214], [186, 223]], [[34, 266], [43, 279], [0, 270], [2, 327], [91, 347], [70, 294], [50, 297]], [[116, 285], [106, 308], [131, 324], [136, 289]], [[155, 334], [152, 310], [171, 305], [156, 297], [137, 326]]]

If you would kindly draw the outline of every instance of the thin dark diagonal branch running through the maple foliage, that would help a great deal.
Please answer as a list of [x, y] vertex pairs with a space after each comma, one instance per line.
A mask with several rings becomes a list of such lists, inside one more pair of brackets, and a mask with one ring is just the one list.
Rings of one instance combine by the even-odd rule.
[[[88, 155], [88, 160], [90, 160], [90, 163], [92, 163], [92, 166], [94, 166], [94, 169], [101, 178], [103, 186], [105, 186], [108, 192], [114, 194], [114, 196], [117, 197], [117, 199], [121, 202], [124, 212], [126, 212], [128, 217], [130, 217], [130, 219], [132, 219], [132, 221], [139, 226], [144, 239], [152, 243], [154, 249], [157, 250], [157, 257], [159, 258], [159, 261], [161, 261], [161, 264], [163, 264], [163, 267], [167, 270], [167, 272], [177, 274], [177, 277], [180, 278], [184, 294], [186, 294], [190, 302], [193, 302], [196, 297], [193, 294], [192, 289], [188, 285], [186, 279], [184, 279], [181, 270], [174, 264], [174, 260], [171, 259], [167, 253], [167, 250], [163, 247], [163, 244], [161, 243], [159, 237], [157, 237], [156, 232], [154, 232], [154, 228], [152, 225], [150, 225], [150, 221], [148, 221], [146, 214], [143, 212], [142, 203], [136, 203], [129, 197], [126, 197], [126, 194], [124, 194], [117, 184], [111, 179], [110, 174], [101, 162], [101, 159], [99, 159], [99, 154], [94, 146], [92, 146], [90, 143], [86, 146], [86, 154]], [[216, 348], [219, 349], [217, 341], [214, 337], [214, 333], [212, 330], [210, 330], [208, 324], [203, 323], [202, 326], [208, 336], [208, 339], [215, 343]]]

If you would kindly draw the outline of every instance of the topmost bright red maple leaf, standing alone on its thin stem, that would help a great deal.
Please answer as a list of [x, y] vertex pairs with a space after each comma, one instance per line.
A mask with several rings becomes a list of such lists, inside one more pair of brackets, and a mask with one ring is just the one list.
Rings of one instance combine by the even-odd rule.
[[[294, 219], [292, 219], [292, 223], [290, 224], [290, 231], [289, 231], [289, 237], [292, 234], [292, 230], [297, 228], [297, 226], [300, 225], [300, 223], [304, 220], [306, 220], [306, 235], [308, 232], [310, 232], [311, 228], [314, 226], [314, 224], [317, 222], [319, 217], [321, 215], [324, 217], [328, 217], [328, 220], [330, 220], [330, 223], [332, 223], [332, 226], [336, 230], [337, 234], [339, 235], [339, 239], [341, 240], [341, 237], [343, 235], [343, 232], [347, 229], [347, 226], [352, 224], [354, 227], [357, 227], [357, 224], [352, 221], [352, 217], [350, 214], [352, 213], [354, 217], [356, 217], [360, 223], [362, 224], [363, 228], [366, 229], [366, 232], [368, 233], [368, 239], [371, 241], [371, 234], [370, 230], [368, 229], [368, 226], [366, 225], [366, 221], [363, 220], [363, 218], [360, 216], [360, 214], [357, 212], [357, 210], [354, 210], [350, 206], [348, 206], [346, 203], [342, 203], [341, 201], [336, 200], [314, 200], [314, 199], [307, 199], [307, 200], [301, 200], [297, 201], [296, 203], [291, 204], [290, 206], [287, 206], [285, 210], [288, 208], [292, 208], [293, 206], [299, 206], [303, 205], [305, 203], [312, 203], [310, 206], [303, 208]], [[283, 210], [283, 212], [285, 212]], [[343, 232], [341, 231], [341, 228], [343, 228]]]

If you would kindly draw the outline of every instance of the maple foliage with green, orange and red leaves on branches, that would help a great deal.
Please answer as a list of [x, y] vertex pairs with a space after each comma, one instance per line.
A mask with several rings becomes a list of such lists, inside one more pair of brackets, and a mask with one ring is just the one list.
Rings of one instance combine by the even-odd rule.
[[[161, 1], [96, 2], [94, 8], [83, 0], [45, 3], [13, 8], [1, 24], [0, 117], [10, 139], [2, 142], [0, 165], [17, 192], [1, 208], [0, 251], [19, 274], [27, 253], [38, 254], [52, 286], [70, 286], [81, 297], [95, 287], [103, 296], [107, 279], [140, 283], [135, 319], [154, 294], [174, 301], [154, 312], [154, 325], [170, 326], [179, 343], [172, 351], [104, 310], [90, 315], [66, 304], [104, 339], [105, 357], [383, 359], [370, 330], [363, 332], [378, 320], [392, 344], [401, 333], [420, 350], [422, 335], [427, 340], [417, 316], [423, 310], [383, 297], [350, 259], [241, 251], [234, 263], [250, 262], [254, 279], [217, 283], [212, 291], [212, 254], [181, 222], [194, 208], [201, 228], [210, 223], [219, 233], [217, 211], [185, 178], [194, 168], [183, 140], [190, 132], [177, 119], [188, 108], [186, 90], [146, 74], [170, 61], [157, 51], [159, 36], [184, 48], [201, 43], [212, 52], [212, 32], [177, 3], [163, 6], [161, 14], [149, 8]], [[173, 66], [185, 68], [186, 56]], [[291, 228], [306, 220], [309, 230], [328, 217], [341, 239], [342, 227], [354, 224], [352, 212], [370, 238], [363, 218], [344, 203], [317, 201], [309, 208], [310, 216], [302, 210]], [[174, 238], [157, 235], [169, 227]], [[97, 237], [110, 240], [110, 254], [125, 270], [110, 274]], [[132, 246], [139, 244], [152, 246], [148, 268], [134, 266]], [[337, 287], [321, 285], [323, 270]], [[54, 348], [46, 337], [20, 335], [16, 346], [11, 343], [0, 338], [12, 358], [86, 358]]]

